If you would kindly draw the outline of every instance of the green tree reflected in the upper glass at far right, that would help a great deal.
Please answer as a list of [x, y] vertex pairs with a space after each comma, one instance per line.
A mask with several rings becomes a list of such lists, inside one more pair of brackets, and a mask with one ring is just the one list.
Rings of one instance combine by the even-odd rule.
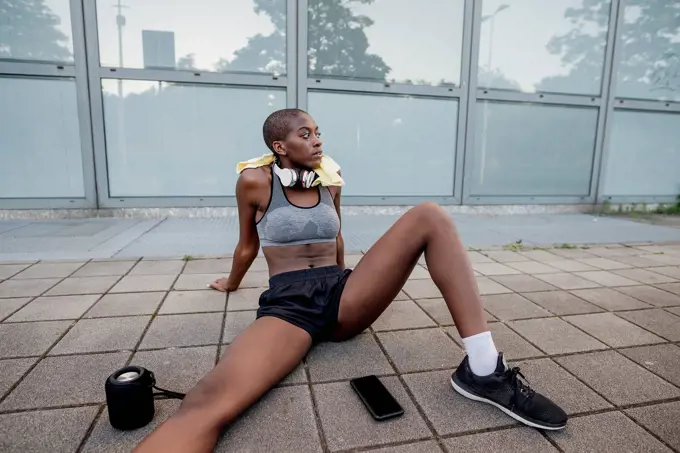
[[[647, 85], [661, 97], [678, 96], [680, 91], [680, 2], [677, 0], [627, 0], [618, 46], [621, 58], [615, 68], [618, 86], [628, 85], [638, 94]], [[572, 83], [583, 79], [592, 83], [602, 77], [604, 46], [609, 24], [609, 3], [583, 0], [578, 8], [569, 8], [565, 17], [573, 29], [554, 37], [548, 50], [561, 56], [571, 66], [566, 76], [548, 77], [539, 89], [556, 91], [564, 78]], [[641, 87], [642, 86], [642, 87]], [[559, 91], [559, 90], [557, 90]], [[621, 95], [621, 93], [619, 93]]]

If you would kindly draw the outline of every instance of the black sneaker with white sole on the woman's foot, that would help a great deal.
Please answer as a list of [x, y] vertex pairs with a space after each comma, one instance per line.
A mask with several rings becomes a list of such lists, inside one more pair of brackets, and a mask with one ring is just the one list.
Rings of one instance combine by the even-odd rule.
[[540, 429], [562, 429], [567, 425], [568, 417], [562, 408], [531, 389], [519, 368], [507, 366], [503, 353], [498, 354], [496, 371], [482, 377], [472, 372], [465, 356], [451, 375], [451, 385], [464, 397], [496, 406], [525, 425]]

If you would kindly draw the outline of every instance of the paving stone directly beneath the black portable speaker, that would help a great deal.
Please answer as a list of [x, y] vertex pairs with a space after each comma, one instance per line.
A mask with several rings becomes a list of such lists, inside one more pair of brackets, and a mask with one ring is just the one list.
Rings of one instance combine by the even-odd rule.
[[[153, 262], [153, 261], [149, 261]], [[162, 385], [161, 385], [162, 386]], [[158, 425], [167, 420], [179, 408], [179, 400], [159, 400], [154, 402], [154, 417], [148, 425], [121, 431], [111, 426], [109, 412], [104, 409], [94, 426], [90, 437], [82, 449], [83, 453], [128, 453], [132, 451]]]

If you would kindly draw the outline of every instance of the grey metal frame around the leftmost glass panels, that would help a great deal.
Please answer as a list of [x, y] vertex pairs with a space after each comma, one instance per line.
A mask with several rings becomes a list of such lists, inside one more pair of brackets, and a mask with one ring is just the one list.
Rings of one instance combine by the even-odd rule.
[[38, 63], [21, 60], [3, 60], [0, 61], [0, 77], [72, 80], [75, 83], [84, 197], [0, 198], [0, 209], [80, 209], [93, 208], [97, 205], [94, 162], [92, 159], [85, 35], [83, 33], [83, 15], [80, 0], [69, 1], [69, 12], [73, 40], [73, 63]]

